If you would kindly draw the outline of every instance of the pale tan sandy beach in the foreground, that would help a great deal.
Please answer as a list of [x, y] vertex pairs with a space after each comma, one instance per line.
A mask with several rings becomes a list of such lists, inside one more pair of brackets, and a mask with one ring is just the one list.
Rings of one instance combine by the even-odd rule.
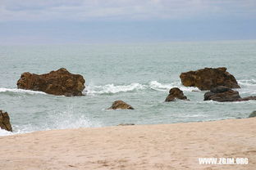
[[[256, 118], [79, 128], [0, 137], [1, 170], [256, 169]], [[199, 157], [248, 158], [200, 165]]]

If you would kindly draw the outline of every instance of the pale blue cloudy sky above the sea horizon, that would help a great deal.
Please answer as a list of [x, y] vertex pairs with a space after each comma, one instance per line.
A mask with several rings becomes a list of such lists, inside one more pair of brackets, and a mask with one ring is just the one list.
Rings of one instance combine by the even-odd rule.
[[0, 0], [0, 44], [256, 39], [256, 0]]

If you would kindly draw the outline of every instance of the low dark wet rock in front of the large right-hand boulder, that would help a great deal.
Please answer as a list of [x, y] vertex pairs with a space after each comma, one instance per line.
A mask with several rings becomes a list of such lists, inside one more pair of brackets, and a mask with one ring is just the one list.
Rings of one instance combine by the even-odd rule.
[[229, 87], [219, 86], [211, 89], [210, 92], [204, 94], [203, 101], [249, 101], [256, 100], [256, 96], [248, 96], [241, 98], [239, 92], [232, 90]]

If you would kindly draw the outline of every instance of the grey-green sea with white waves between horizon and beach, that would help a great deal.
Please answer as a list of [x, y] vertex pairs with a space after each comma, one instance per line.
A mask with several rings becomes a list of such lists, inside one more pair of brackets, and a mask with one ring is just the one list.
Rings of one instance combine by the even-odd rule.
[[[185, 123], [246, 118], [256, 101], [203, 101], [204, 92], [184, 87], [182, 72], [226, 67], [240, 96], [256, 96], [256, 41], [168, 42], [116, 45], [0, 46], [0, 110], [15, 133], [119, 123]], [[86, 96], [52, 96], [16, 88], [23, 72], [66, 68], [85, 78]], [[190, 101], [165, 103], [171, 87]], [[135, 110], [106, 110], [122, 100]], [[0, 130], [0, 135], [13, 134]]]

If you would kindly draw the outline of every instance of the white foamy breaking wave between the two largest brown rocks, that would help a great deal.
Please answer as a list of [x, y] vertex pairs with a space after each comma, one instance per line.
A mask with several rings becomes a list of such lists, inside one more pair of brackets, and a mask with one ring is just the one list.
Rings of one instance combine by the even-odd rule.
[[95, 94], [115, 94], [119, 92], [134, 92], [139, 90], [155, 90], [159, 92], [168, 92], [172, 87], [179, 87], [182, 91], [198, 91], [197, 87], [184, 87], [181, 83], [162, 84], [157, 81], [151, 81], [146, 84], [130, 83], [128, 85], [115, 85], [113, 83], [103, 86], [88, 85], [85, 89], [86, 95]]

